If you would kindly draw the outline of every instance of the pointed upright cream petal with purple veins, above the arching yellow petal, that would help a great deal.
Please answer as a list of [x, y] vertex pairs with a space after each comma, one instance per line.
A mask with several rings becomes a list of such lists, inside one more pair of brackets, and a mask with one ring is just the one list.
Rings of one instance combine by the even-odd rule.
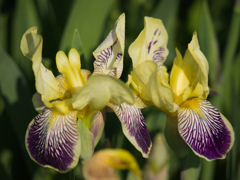
[[119, 78], [123, 70], [123, 54], [125, 46], [125, 14], [116, 21], [113, 30], [93, 52], [94, 74], [109, 74]]

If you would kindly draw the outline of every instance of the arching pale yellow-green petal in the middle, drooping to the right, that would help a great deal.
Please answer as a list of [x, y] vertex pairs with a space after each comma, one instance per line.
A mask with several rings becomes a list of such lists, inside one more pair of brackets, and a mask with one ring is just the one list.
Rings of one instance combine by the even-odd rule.
[[73, 95], [73, 108], [81, 110], [89, 105], [98, 111], [112, 99], [120, 104], [134, 104], [134, 97], [128, 87], [119, 79], [108, 75], [91, 76], [78, 94]]

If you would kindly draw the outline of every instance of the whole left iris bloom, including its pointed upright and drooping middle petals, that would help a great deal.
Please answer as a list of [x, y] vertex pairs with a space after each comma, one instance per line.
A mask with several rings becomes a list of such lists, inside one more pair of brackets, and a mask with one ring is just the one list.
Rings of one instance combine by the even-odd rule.
[[[60, 172], [74, 168], [83, 149], [79, 126], [82, 122], [85, 124], [96, 145], [102, 132], [99, 120], [103, 121], [103, 114], [100, 110], [106, 104], [119, 115], [123, 131], [130, 141], [137, 147], [145, 143], [145, 139], [141, 139], [142, 128], [143, 133], [147, 131], [146, 125], [140, 121], [143, 120], [142, 114], [140, 110], [131, 108], [129, 104], [134, 104], [134, 97], [127, 86], [117, 79], [123, 68], [124, 36], [123, 14], [94, 52], [97, 60], [92, 76], [88, 70], [81, 69], [80, 56], [76, 49], [71, 49], [68, 57], [63, 51], [57, 53], [60, 75], [55, 77], [42, 64], [43, 39], [37, 34], [37, 28], [32, 27], [23, 35], [21, 50], [33, 63], [36, 90], [45, 107], [30, 122], [26, 132], [26, 147], [35, 162]], [[136, 110], [135, 114], [131, 114], [131, 110]], [[145, 144], [140, 145], [145, 147]]]

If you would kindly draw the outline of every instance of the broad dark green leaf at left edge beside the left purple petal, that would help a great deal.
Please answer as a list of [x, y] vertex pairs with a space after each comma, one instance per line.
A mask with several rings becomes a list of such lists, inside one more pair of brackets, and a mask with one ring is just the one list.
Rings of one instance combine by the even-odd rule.
[[25, 133], [28, 123], [35, 116], [26, 79], [13, 59], [0, 48], [0, 92], [5, 103], [7, 115], [17, 135], [23, 156], [30, 172], [34, 162], [25, 148]]

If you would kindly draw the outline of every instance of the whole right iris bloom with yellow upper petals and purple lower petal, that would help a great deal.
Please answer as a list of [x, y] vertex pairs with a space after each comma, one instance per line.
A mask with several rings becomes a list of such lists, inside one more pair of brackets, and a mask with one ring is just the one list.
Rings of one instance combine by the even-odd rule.
[[[162, 21], [145, 17], [145, 28], [129, 47], [133, 61], [129, 83], [140, 98], [167, 114], [167, 125], [177, 125], [178, 133], [196, 155], [206, 160], [225, 158], [232, 148], [234, 131], [206, 100], [209, 67], [197, 34], [193, 34], [183, 58], [176, 49], [170, 84], [163, 65], [168, 55], [167, 40]], [[177, 141], [174, 136], [172, 140]]]

